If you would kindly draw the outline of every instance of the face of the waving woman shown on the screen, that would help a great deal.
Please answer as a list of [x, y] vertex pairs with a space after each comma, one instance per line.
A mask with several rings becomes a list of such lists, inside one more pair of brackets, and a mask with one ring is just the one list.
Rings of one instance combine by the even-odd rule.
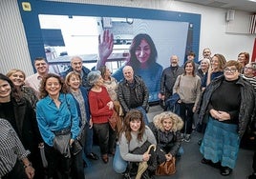
[[151, 49], [147, 41], [141, 40], [139, 47], [136, 48], [135, 54], [141, 64], [148, 61], [150, 57]]

